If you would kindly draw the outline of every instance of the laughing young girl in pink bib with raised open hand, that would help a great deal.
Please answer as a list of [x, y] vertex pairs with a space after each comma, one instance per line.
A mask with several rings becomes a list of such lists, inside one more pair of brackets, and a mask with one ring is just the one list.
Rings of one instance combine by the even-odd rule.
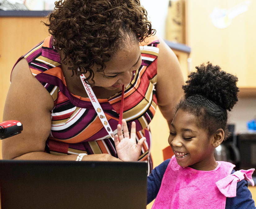
[[[148, 176], [148, 203], [152, 208], [254, 208], [248, 181], [254, 169], [236, 171], [235, 165], [215, 161], [214, 149], [228, 136], [227, 110], [238, 101], [237, 77], [207, 63], [196, 67], [183, 86], [168, 142], [174, 155]], [[135, 140], [123, 120], [115, 136], [119, 159], [136, 161], [145, 138]], [[119, 140], [118, 140], [119, 139]]]

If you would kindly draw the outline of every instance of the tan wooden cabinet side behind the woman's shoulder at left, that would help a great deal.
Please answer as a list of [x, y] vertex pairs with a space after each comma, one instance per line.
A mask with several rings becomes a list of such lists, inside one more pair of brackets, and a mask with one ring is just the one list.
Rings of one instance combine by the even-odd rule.
[[10, 73], [17, 59], [48, 35], [42, 17], [0, 17], [0, 120], [10, 85]]

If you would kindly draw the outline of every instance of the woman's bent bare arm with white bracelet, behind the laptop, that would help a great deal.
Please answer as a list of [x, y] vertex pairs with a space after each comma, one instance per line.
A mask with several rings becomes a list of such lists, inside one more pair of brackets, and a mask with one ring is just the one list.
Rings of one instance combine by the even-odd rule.
[[[2, 140], [3, 159], [76, 160], [77, 155], [45, 153], [51, 130], [52, 96], [32, 75], [25, 59], [13, 69], [3, 120], [19, 120], [22, 133]], [[108, 154], [86, 155], [83, 160], [119, 160]]]

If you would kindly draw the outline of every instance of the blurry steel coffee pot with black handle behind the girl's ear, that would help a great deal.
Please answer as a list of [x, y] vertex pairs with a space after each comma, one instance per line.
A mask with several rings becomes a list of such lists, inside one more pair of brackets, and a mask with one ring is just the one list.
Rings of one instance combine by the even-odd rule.
[[235, 125], [228, 124], [228, 131], [231, 135], [214, 150], [214, 157], [217, 161], [226, 161], [236, 165], [236, 170], [240, 168], [240, 153], [236, 143]]

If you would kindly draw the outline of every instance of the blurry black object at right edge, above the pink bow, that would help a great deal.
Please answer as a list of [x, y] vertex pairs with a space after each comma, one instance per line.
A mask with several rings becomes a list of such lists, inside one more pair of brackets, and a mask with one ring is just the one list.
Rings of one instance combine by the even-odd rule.
[[[256, 168], [256, 132], [237, 135], [237, 146], [242, 156], [240, 169]], [[256, 173], [253, 173], [256, 176]]]

